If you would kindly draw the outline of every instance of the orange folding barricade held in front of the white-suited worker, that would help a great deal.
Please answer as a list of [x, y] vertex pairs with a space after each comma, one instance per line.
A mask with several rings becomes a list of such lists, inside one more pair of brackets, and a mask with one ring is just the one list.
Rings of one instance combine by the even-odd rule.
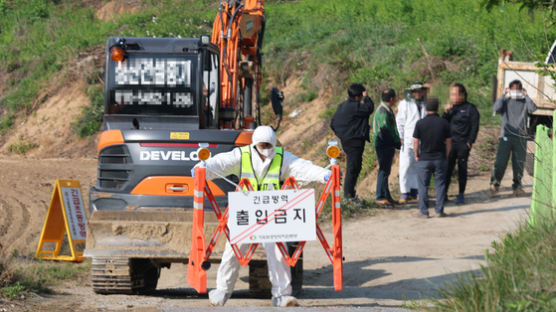
[[[326, 186], [319, 201], [315, 207], [316, 218], [318, 219], [326, 199], [330, 194], [332, 194], [332, 227], [334, 233], [334, 242], [332, 248], [328, 244], [328, 241], [324, 237], [322, 230], [316, 223], [317, 237], [320, 240], [322, 247], [330, 262], [332, 263], [332, 268], [334, 272], [334, 289], [336, 291], [342, 290], [343, 284], [343, 255], [342, 255], [342, 210], [340, 206], [340, 166], [332, 165], [332, 175]], [[222, 212], [216, 200], [214, 198], [213, 192], [211, 191], [209, 185], [206, 183], [206, 168], [204, 166], [199, 166], [195, 168], [195, 187], [194, 187], [194, 212], [193, 212], [193, 242], [191, 245], [191, 251], [189, 254], [189, 264], [187, 268], [187, 282], [193, 286], [195, 290], [199, 293], [206, 293], [206, 270], [210, 267], [208, 259], [212, 254], [214, 246], [218, 242], [222, 232], [226, 235], [228, 241], [230, 240], [230, 231], [228, 229], [228, 207]], [[253, 191], [253, 187], [249, 180], [241, 179], [239, 182], [239, 188], [236, 191], [241, 191], [246, 188], [248, 191]], [[298, 189], [299, 185], [293, 177], [286, 179], [282, 189]], [[216, 228], [209, 245], [205, 248], [205, 235], [203, 231], [204, 227], [204, 202], [205, 197], [208, 199], [216, 217], [218, 218], [218, 227]], [[290, 256], [288, 253], [288, 248], [285, 243], [278, 242], [278, 248], [284, 256], [284, 259], [290, 266], [295, 266], [306, 242], [300, 242], [297, 248]], [[245, 255], [243, 255], [237, 244], [231, 244], [234, 254], [238, 259], [240, 265], [247, 265], [251, 258], [253, 257], [255, 250], [259, 244], [253, 243], [249, 246], [249, 249]]]

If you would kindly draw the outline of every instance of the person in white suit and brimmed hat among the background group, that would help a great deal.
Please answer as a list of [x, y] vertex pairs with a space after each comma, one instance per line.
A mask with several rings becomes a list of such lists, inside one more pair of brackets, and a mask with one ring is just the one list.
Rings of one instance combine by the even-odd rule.
[[415, 124], [426, 115], [425, 97], [427, 88], [422, 82], [414, 82], [409, 88], [411, 97], [398, 104], [396, 124], [401, 139], [400, 150], [400, 203], [417, 198], [418, 180], [415, 155], [413, 153], [413, 131]]

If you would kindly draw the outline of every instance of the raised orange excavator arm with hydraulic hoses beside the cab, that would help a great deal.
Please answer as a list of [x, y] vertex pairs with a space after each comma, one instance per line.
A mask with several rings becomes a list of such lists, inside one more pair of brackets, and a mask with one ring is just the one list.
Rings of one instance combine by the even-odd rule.
[[264, 26], [264, 0], [220, 3], [211, 42], [220, 50], [221, 128], [253, 128], [254, 116], [260, 124]]

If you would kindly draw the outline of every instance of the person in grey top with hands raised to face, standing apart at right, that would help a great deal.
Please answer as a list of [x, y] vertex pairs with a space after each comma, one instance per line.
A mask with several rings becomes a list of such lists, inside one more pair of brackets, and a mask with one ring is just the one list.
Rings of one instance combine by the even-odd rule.
[[523, 166], [525, 164], [525, 153], [527, 149], [527, 117], [537, 109], [535, 103], [523, 89], [521, 81], [510, 82], [509, 88], [494, 102], [492, 110], [494, 114], [502, 115], [500, 119], [502, 134], [498, 139], [496, 160], [490, 178], [491, 195], [496, 195], [500, 188], [500, 182], [508, 166], [510, 154], [512, 156], [513, 169], [513, 195], [523, 196], [525, 192], [521, 185], [523, 177]]

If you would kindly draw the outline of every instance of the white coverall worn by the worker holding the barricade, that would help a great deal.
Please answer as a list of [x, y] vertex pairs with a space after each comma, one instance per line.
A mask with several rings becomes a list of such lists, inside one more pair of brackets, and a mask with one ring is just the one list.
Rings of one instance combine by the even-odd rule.
[[[253, 142], [255, 142], [255, 137], [253, 137]], [[259, 142], [276, 144], [276, 139], [274, 139], [274, 142], [270, 142], [269, 140]], [[254, 148], [255, 144], [256, 143], [251, 145], [251, 163], [253, 165], [255, 175], [262, 182], [262, 177], [264, 177], [264, 174], [268, 171], [272, 159], [267, 158], [263, 161]], [[206, 168], [207, 180], [218, 178], [214, 172], [217, 172], [222, 176], [234, 174], [239, 177], [241, 170], [240, 149], [234, 148], [230, 152], [221, 153], [209, 158], [206, 161]], [[329, 172], [330, 170], [316, 166], [308, 160], [298, 158], [292, 153], [287, 151], [283, 152], [280, 181], [285, 181], [286, 178], [293, 176], [296, 181], [299, 182], [325, 183], [325, 177]], [[268, 276], [270, 282], [272, 283], [272, 296], [280, 297], [291, 295], [291, 271], [289, 265], [284, 260], [284, 257], [280, 253], [278, 247], [276, 247], [275, 243], [265, 243], [263, 246], [266, 251], [266, 258], [268, 262]], [[245, 254], [248, 247], [249, 244], [243, 244], [240, 246], [242, 254]], [[236, 259], [230, 243], [226, 242], [226, 248], [224, 250], [224, 254], [222, 255], [222, 262], [218, 267], [218, 273], [216, 276], [216, 288], [218, 290], [222, 290], [225, 293], [231, 293], [233, 291], [239, 274], [239, 266], [239, 262]]]

